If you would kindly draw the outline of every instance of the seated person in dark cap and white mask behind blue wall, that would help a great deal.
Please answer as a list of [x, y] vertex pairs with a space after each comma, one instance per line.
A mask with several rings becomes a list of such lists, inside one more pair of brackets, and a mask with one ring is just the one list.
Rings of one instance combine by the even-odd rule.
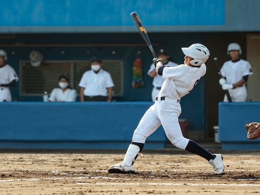
[[75, 102], [77, 91], [69, 86], [69, 76], [62, 74], [58, 79], [58, 88], [54, 88], [48, 102]]

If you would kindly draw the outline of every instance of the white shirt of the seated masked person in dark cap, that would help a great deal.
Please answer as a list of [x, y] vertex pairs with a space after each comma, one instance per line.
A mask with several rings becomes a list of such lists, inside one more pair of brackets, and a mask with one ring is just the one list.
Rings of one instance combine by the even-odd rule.
[[54, 88], [51, 92], [49, 100], [52, 102], [75, 102], [77, 91], [67, 88], [64, 92], [61, 88]]

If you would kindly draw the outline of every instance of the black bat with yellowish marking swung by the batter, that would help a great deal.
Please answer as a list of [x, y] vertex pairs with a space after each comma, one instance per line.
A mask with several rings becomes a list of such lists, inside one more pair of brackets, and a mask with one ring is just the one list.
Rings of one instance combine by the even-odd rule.
[[131, 17], [132, 17], [132, 19], [135, 23], [136, 28], [139, 30], [139, 33], [141, 34], [143, 39], [146, 41], [150, 51], [152, 52], [153, 57], [157, 58], [157, 56], [156, 56], [156, 54], [153, 50], [153, 46], [152, 46], [150, 39], [148, 37], [148, 34], [146, 32], [146, 29], [144, 28], [143, 23], [140, 20], [140, 17], [138, 16], [138, 14], [136, 12], [132, 12], [130, 15], [131, 15]]

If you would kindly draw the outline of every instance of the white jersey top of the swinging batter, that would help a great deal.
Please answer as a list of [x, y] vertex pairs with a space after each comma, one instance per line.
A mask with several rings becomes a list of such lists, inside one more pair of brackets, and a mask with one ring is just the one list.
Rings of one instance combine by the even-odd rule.
[[199, 79], [206, 74], [206, 65], [192, 67], [180, 64], [175, 67], [164, 67], [162, 78], [165, 79], [158, 96], [180, 100], [191, 92]]

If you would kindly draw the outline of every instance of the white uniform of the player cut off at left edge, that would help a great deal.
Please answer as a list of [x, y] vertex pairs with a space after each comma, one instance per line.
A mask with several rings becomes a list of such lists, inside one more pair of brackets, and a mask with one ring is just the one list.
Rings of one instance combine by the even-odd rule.
[[[8, 64], [0, 67], [0, 84], [9, 84], [13, 80], [18, 81], [15, 70]], [[0, 86], [0, 102], [11, 102], [12, 95], [9, 87]]]

